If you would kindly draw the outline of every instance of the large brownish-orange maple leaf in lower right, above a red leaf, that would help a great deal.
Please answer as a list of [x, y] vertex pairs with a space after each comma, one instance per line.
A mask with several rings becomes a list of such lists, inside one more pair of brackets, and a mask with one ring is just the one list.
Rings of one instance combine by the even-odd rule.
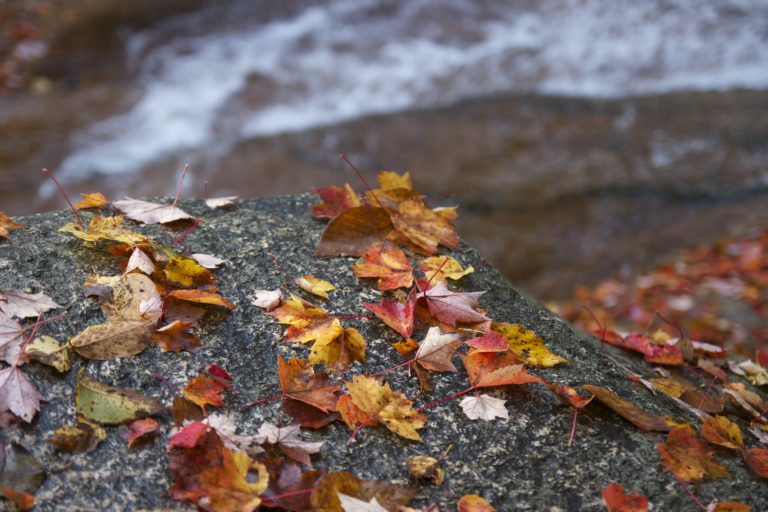
[[684, 482], [701, 482], [704, 476], [713, 480], [730, 476], [725, 466], [715, 460], [712, 449], [688, 425], [671, 430], [667, 442], [656, 447], [664, 468]]

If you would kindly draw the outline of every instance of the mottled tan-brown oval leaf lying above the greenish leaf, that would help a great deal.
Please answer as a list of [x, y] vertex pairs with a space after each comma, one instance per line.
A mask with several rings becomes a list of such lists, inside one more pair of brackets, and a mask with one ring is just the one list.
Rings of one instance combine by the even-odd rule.
[[107, 322], [87, 327], [69, 340], [69, 346], [86, 359], [116, 359], [143, 352], [152, 343], [154, 332], [151, 320]]

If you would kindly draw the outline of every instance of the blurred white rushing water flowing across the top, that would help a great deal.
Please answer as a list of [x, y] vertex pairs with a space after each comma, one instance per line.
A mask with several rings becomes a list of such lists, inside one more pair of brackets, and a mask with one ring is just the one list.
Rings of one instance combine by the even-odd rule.
[[[141, 99], [80, 134], [59, 175], [128, 172], [217, 141], [509, 91], [765, 88], [766, 27], [766, 0], [331, 0], [151, 50]], [[270, 103], [227, 114], [254, 75], [275, 84]]]

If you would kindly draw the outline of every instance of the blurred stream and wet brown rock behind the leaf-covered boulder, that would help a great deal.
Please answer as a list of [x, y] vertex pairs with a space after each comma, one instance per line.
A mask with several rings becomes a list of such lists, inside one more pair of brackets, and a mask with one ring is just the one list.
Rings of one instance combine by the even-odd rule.
[[545, 299], [768, 225], [766, 0], [0, 0], [0, 210], [411, 170]]

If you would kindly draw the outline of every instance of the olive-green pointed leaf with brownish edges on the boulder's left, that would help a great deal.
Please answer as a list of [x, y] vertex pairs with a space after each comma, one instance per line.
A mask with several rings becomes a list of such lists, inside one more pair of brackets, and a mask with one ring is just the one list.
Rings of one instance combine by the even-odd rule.
[[84, 418], [105, 425], [117, 425], [159, 414], [165, 408], [138, 391], [108, 386], [80, 372], [75, 390], [75, 408]]

